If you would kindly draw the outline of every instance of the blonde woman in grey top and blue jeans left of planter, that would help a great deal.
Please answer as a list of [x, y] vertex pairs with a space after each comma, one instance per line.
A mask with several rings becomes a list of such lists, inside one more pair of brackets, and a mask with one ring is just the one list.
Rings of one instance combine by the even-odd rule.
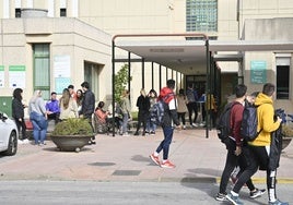
[[30, 120], [33, 124], [33, 135], [35, 145], [45, 145], [46, 133], [48, 128], [47, 111], [45, 101], [42, 97], [42, 91], [37, 89], [34, 92], [34, 96], [28, 102], [28, 114]]

